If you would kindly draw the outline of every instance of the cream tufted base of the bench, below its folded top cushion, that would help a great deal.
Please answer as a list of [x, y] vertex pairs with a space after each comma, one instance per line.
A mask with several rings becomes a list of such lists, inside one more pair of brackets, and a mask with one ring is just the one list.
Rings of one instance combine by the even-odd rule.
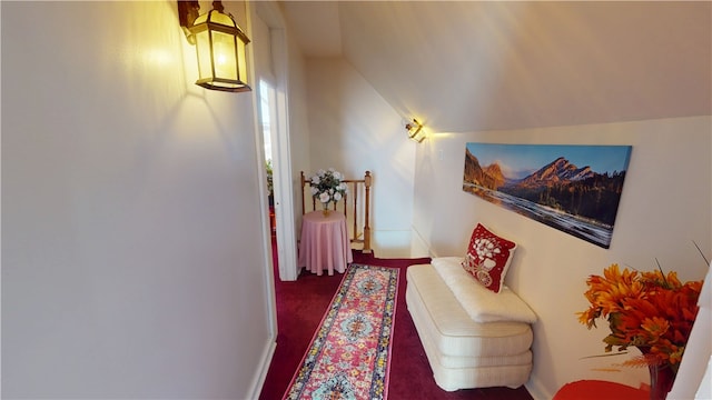
[[429, 264], [407, 269], [406, 304], [435, 382], [447, 391], [526, 383], [532, 328], [525, 322], [472, 320]]

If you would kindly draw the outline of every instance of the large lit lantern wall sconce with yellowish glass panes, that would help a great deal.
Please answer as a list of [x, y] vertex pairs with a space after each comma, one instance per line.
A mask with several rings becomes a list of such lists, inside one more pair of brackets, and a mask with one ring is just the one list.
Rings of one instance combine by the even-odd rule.
[[228, 92], [249, 91], [245, 49], [249, 39], [224, 10], [221, 1], [214, 1], [212, 10], [199, 14], [197, 0], [178, 0], [178, 20], [198, 56], [196, 84]]

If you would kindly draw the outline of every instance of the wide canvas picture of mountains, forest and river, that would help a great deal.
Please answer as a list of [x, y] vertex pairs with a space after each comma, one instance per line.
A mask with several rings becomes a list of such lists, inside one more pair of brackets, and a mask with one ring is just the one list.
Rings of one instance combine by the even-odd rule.
[[467, 143], [463, 190], [607, 249], [631, 150]]

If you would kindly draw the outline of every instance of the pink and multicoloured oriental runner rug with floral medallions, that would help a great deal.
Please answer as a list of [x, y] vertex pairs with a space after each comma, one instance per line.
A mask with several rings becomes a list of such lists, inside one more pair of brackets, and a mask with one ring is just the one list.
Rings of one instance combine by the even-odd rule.
[[352, 264], [284, 399], [386, 399], [398, 269]]

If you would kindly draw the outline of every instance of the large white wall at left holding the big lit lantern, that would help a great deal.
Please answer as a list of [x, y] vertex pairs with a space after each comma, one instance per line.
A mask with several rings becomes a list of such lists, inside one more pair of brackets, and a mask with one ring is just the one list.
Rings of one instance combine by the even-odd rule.
[[1, 7], [2, 396], [256, 397], [253, 93], [192, 83], [175, 1]]

